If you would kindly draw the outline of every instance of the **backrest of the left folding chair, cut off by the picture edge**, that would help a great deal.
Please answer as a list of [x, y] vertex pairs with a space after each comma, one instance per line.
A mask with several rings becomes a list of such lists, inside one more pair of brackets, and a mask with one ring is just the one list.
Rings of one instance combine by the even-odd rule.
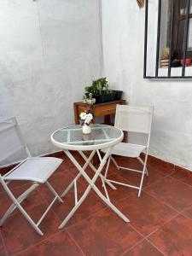
[[15, 117], [0, 119], [0, 167], [18, 163], [30, 155]]

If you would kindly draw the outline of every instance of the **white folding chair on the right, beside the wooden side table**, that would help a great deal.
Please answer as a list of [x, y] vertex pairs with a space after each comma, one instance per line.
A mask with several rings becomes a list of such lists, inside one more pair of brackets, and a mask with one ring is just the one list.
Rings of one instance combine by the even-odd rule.
[[[125, 187], [131, 187], [138, 189], [138, 196], [141, 195], [143, 187], [144, 174], [148, 175], [147, 160], [148, 160], [148, 146], [150, 140], [151, 124], [153, 119], [154, 107], [131, 107], [128, 105], [118, 105], [116, 108], [116, 115], [114, 126], [120, 128], [123, 131], [143, 133], [148, 136], [146, 145], [132, 144], [132, 143], [119, 143], [113, 148], [112, 154], [121, 155], [125, 157], [137, 158], [143, 164], [143, 170], [136, 170], [127, 168], [125, 166], [119, 166], [113, 159], [112, 154], [108, 158], [108, 165], [105, 172], [105, 177], [108, 175], [108, 168], [110, 161], [113, 160], [114, 165], [117, 169], [128, 170], [132, 172], [140, 172], [142, 174], [139, 186], [134, 186], [127, 183], [120, 183], [108, 179], [110, 183], [116, 183]], [[104, 152], [104, 150], [102, 150]], [[145, 151], [144, 161], [141, 159], [140, 154]], [[99, 154], [99, 153], [98, 153]]]

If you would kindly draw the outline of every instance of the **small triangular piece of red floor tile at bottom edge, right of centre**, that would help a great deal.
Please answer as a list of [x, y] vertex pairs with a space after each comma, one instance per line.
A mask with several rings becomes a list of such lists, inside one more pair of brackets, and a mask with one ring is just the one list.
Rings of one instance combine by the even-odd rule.
[[162, 256], [163, 253], [154, 247], [150, 242], [144, 240], [139, 243], [136, 247], [132, 248], [131, 251], [124, 253], [123, 256]]

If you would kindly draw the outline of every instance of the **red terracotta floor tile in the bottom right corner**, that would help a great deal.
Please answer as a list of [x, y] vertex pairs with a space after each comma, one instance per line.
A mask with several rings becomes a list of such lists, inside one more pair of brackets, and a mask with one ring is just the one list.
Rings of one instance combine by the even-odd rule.
[[148, 238], [167, 255], [190, 256], [192, 253], [192, 221], [177, 216]]

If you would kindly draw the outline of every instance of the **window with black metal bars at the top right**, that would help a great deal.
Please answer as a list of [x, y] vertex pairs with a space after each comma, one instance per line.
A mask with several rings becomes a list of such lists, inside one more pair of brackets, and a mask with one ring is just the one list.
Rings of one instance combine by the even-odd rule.
[[192, 0], [145, 0], [143, 77], [192, 79]]

